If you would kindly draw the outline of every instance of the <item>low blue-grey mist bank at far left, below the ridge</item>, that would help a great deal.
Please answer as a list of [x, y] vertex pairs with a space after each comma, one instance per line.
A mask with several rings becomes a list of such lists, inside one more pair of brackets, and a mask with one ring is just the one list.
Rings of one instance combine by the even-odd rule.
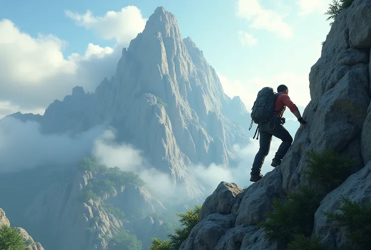
[[0, 122], [0, 173], [48, 164], [69, 165], [89, 154], [95, 138], [103, 132], [103, 126], [97, 126], [75, 137], [44, 135], [39, 127], [37, 122], [21, 122], [12, 117]]

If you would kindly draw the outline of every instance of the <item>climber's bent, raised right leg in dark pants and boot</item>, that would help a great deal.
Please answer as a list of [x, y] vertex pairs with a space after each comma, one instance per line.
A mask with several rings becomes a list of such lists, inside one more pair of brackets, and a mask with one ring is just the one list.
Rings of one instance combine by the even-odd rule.
[[277, 119], [275, 128], [271, 130], [270, 132], [273, 134], [273, 136], [282, 140], [282, 143], [278, 147], [276, 155], [273, 158], [273, 161], [271, 164], [272, 167], [276, 167], [278, 165], [281, 165], [281, 161], [283, 157], [286, 155], [288, 149], [290, 148], [292, 144], [292, 136], [286, 130], [286, 128], [279, 122], [279, 119]]

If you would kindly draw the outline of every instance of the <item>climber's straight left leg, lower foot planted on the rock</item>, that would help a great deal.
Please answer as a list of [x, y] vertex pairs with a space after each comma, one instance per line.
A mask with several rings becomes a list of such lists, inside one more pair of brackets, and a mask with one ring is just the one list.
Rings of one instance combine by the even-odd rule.
[[251, 169], [251, 179], [250, 181], [258, 181], [259, 179], [262, 178], [260, 176], [260, 172], [262, 170], [262, 166], [264, 163], [264, 159], [269, 153], [269, 148], [271, 146], [271, 141], [272, 141], [272, 134], [268, 133], [264, 129], [261, 129], [259, 127], [259, 151], [255, 156], [254, 163], [253, 163], [253, 168]]

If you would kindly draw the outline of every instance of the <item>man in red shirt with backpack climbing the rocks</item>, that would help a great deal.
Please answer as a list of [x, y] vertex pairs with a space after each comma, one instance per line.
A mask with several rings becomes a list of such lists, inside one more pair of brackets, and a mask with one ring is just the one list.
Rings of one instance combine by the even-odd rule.
[[[263, 104], [261, 103], [262, 101], [264, 101]], [[272, 167], [276, 167], [281, 164], [283, 157], [285, 156], [289, 147], [291, 146], [292, 137], [283, 126], [283, 124], [285, 123], [285, 118], [283, 118], [282, 116], [283, 113], [285, 112], [286, 106], [297, 118], [298, 122], [300, 123], [300, 128], [304, 129], [307, 122], [304, 121], [304, 119], [301, 117], [298, 108], [288, 96], [288, 88], [286, 85], [283, 84], [279, 85], [277, 87], [277, 93], [274, 93], [273, 89], [270, 87], [265, 87], [258, 93], [258, 97], [254, 103], [251, 115], [253, 121], [259, 124], [257, 130], [259, 129], [258, 137], [260, 134], [259, 140], [260, 148], [255, 156], [253, 167], [251, 169], [250, 181], [252, 182], [256, 182], [263, 177], [263, 175], [260, 172], [262, 170], [264, 159], [269, 153], [272, 136], [275, 136], [282, 140], [282, 143], [279, 146], [277, 153], [272, 160], [271, 164]], [[272, 111], [270, 111], [270, 113], [267, 115], [267, 111], [265, 110], [272, 109], [272, 107], [274, 107], [273, 115]], [[269, 118], [266, 119], [267, 117]], [[252, 125], [250, 126], [250, 128], [251, 127]]]

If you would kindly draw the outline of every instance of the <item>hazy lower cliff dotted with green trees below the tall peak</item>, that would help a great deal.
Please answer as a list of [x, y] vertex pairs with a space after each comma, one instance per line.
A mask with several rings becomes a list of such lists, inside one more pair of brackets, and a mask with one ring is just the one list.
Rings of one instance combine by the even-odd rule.
[[[77, 169], [68, 171], [45, 174], [47, 169], [33, 170], [43, 174], [25, 176], [22, 184], [29, 191], [19, 188], [19, 192], [0, 192], [1, 202], [12, 212], [17, 224], [25, 225], [50, 249], [107, 250], [127, 245], [138, 250], [146, 249], [151, 237], [166, 236], [167, 221], [161, 215], [167, 210], [137, 175], [86, 162], [89, 168], [85, 169], [80, 163]], [[10, 177], [7, 176], [11, 183], [18, 183]], [[3, 178], [0, 182], [0, 189], [9, 186]], [[34, 182], [46, 183], [34, 187]], [[25, 201], [15, 202], [15, 197], [22, 196]]]

